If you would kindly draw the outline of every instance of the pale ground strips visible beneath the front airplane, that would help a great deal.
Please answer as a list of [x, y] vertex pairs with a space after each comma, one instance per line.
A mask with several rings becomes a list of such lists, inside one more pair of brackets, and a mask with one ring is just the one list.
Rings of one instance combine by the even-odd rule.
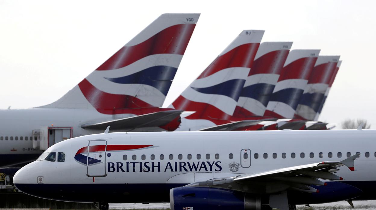
[[[314, 204], [311, 207], [297, 205], [299, 210], [371, 210], [376, 209], [376, 201], [353, 201], [352, 208], [347, 201], [333, 202], [327, 204]], [[109, 204], [110, 209], [170, 209], [170, 204]]]

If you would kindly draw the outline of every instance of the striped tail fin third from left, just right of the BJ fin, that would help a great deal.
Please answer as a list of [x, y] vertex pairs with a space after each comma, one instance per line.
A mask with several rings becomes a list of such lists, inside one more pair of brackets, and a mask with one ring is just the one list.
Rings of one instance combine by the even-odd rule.
[[241, 91], [234, 117], [263, 116], [293, 42], [262, 42]]

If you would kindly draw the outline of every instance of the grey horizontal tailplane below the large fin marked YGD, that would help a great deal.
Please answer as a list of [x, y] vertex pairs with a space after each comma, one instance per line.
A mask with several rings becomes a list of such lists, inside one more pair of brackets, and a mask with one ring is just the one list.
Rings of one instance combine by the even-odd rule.
[[182, 112], [182, 110], [165, 110], [106, 122], [83, 124], [81, 127], [93, 130], [105, 130], [109, 125], [111, 126], [111, 130], [159, 127], [171, 122], [173, 119], [180, 116], [180, 113]]

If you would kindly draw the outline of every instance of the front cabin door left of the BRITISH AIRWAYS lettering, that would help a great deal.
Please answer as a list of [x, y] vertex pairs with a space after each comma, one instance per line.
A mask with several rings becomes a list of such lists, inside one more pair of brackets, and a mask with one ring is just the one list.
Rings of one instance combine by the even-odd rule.
[[88, 144], [87, 153], [87, 176], [105, 177], [106, 174], [106, 148], [107, 141], [92, 140]]

